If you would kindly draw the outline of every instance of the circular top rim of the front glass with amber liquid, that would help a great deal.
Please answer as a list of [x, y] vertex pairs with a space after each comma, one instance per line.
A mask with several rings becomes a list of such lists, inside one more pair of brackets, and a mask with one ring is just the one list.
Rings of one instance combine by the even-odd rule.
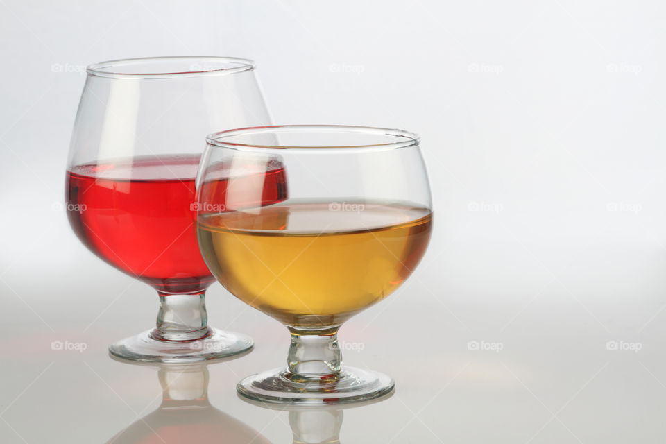
[[[358, 145], [258, 145], [229, 142], [223, 139], [239, 135], [255, 134], [280, 134], [280, 133], [358, 133], [365, 135], [391, 136], [395, 142], [382, 142], [377, 144]], [[377, 126], [355, 126], [355, 125], [272, 125], [272, 126], [248, 126], [246, 128], [234, 128], [231, 130], [218, 131], [207, 135], [206, 143], [209, 146], [220, 148], [231, 148], [241, 150], [244, 148], [279, 149], [279, 150], [311, 150], [332, 149], [346, 150], [353, 148], [405, 148], [418, 145], [420, 136], [407, 130], [395, 128], [382, 128]]]

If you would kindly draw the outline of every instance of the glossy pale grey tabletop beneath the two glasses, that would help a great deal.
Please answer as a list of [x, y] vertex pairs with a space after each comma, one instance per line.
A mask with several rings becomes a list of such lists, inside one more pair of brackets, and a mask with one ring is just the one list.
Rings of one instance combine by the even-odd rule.
[[[22, 298], [7, 298], [6, 314], [15, 315], [2, 327], [1, 441], [323, 443], [339, 435], [343, 443], [623, 443], [666, 436], [663, 253], [571, 245], [549, 253], [561, 254], [554, 267], [526, 251], [495, 241], [430, 250], [403, 287], [342, 327], [345, 364], [396, 382], [390, 398], [342, 410], [267, 409], [237, 397], [241, 377], [284, 364], [289, 335], [219, 284], [207, 298], [210, 322], [252, 335], [253, 352], [160, 368], [106, 352], [114, 339], [151, 327], [157, 298], [143, 284], [85, 250], [79, 253], [89, 260], [78, 270], [85, 273], [70, 270], [62, 282], [6, 276]], [[53, 300], [25, 296], [43, 296], [51, 285]]]

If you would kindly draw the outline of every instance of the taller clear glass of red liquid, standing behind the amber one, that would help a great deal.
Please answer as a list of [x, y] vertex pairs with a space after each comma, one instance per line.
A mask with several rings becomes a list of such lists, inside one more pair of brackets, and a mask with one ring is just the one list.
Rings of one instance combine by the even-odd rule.
[[67, 162], [69, 222], [87, 248], [151, 285], [160, 300], [155, 328], [112, 344], [112, 355], [196, 361], [252, 347], [248, 336], [207, 325], [205, 290], [214, 278], [197, 246], [194, 182], [204, 135], [267, 123], [251, 60], [88, 67]]

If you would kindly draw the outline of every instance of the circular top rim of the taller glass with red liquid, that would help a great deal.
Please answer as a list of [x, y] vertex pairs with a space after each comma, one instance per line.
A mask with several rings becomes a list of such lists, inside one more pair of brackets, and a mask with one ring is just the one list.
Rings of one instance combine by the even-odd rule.
[[[164, 70], [155, 72], [133, 73], [123, 71], [123, 67], [129, 67], [139, 64], [151, 64], [164, 61], [183, 61], [190, 62], [189, 70], [187, 71], [171, 71]], [[229, 65], [237, 65], [230, 67], [210, 67], [207, 69], [205, 63], [226, 63]], [[191, 69], [193, 66], [200, 65], [199, 69]], [[134, 79], [148, 79], [148, 78], [173, 78], [173, 77], [197, 77], [197, 76], [216, 76], [219, 74], [232, 74], [242, 71], [251, 71], [255, 69], [256, 65], [253, 60], [239, 57], [223, 57], [223, 56], [159, 56], [159, 57], [139, 57], [139, 58], [123, 58], [117, 60], [105, 60], [103, 62], [93, 63], [88, 65], [85, 69], [89, 76], [99, 76], [108, 78], [134, 78]]]

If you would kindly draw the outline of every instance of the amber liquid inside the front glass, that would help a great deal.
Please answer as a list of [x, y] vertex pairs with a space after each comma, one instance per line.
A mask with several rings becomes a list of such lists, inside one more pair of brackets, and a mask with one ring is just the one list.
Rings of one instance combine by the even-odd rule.
[[398, 288], [431, 227], [421, 207], [292, 203], [200, 216], [197, 231], [206, 264], [235, 296], [286, 325], [330, 327]]

